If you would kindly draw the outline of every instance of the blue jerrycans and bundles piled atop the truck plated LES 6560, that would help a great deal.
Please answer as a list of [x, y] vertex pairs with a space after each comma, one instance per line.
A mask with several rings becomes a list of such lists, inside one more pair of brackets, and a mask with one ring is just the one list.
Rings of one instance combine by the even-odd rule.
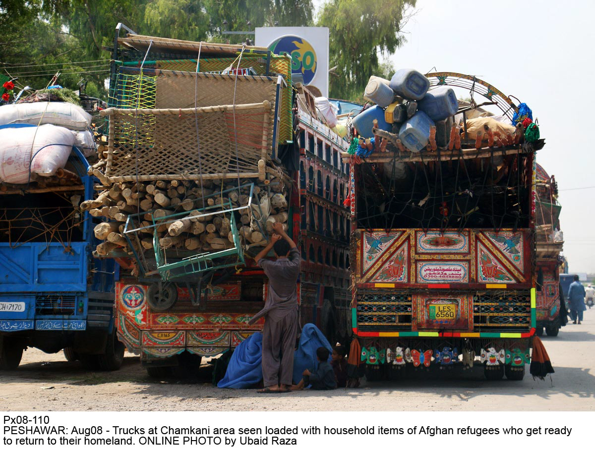
[[[470, 103], [458, 100], [452, 86], [471, 92], [477, 87], [488, 102], [478, 105], [473, 99]], [[374, 152], [406, 156], [439, 149], [452, 155], [461, 150], [494, 147], [540, 149], [544, 144], [525, 104], [515, 106], [508, 96], [470, 75], [423, 75], [413, 69], [401, 69], [391, 80], [370, 77], [364, 99], [376, 105], [364, 108], [351, 119], [361, 140], [367, 140], [365, 149], [354, 147], [356, 156], [369, 157]], [[502, 114], [481, 109], [484, 105], [497, 106]]]

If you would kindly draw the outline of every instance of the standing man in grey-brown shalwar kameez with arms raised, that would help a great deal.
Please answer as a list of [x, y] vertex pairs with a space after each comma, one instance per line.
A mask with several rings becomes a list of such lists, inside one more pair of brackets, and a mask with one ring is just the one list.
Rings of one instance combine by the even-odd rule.
[[[259, 393], [289, 392], [293, 376], [293, 352], [299, 330], [297, 310], [297, 277], [302, 258], [295, 242], [281, 223], [273, 225], [274, 234], [267, 246], [254, 258], [268, 277], [264, 308], [249, 321], [265, 318], [262, 331], [262, 378]], [[273, 248], [275, 261], [264, 257]]]

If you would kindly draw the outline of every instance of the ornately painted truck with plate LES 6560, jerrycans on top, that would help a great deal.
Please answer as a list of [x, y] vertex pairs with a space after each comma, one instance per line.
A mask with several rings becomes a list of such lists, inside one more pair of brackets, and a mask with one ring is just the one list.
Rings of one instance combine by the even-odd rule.
[[[534, 185], [544, 141], [525, 133], [534, 128], [523, 124], [527, 108], [483, 80], [414, 75], [409, 87], [427, 83], [417, 100], [396, 92], [403, 99], [373, 113], [368, 135], [359, 113], [359, 140], [342, 155], [361, 361], [369, 379], [481, 364], [488, 379], [520, 380], [536, 328]], [[471, 101], [458, 102], [458, 89]], [[452, 109], [429, 120], [428, 96]]]

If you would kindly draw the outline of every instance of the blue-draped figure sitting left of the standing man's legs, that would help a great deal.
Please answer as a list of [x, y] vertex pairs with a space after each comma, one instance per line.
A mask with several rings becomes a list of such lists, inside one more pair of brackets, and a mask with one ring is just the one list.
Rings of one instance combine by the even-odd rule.
[[262, 380], [262, 333], [245, 339], [233, 352], [227, 371], [217, 387], [247, 389]]

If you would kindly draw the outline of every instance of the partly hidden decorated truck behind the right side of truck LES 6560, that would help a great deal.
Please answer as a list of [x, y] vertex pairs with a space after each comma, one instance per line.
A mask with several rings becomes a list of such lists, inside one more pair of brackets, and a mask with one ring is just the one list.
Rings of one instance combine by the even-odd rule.
[[564, 244], [560, 231], [558, 184], [554, 176], [537, 165], [536, 182], [536, 333], [557, 336], [566, 324], [565, 293], [560, 286], [560, 252]]

